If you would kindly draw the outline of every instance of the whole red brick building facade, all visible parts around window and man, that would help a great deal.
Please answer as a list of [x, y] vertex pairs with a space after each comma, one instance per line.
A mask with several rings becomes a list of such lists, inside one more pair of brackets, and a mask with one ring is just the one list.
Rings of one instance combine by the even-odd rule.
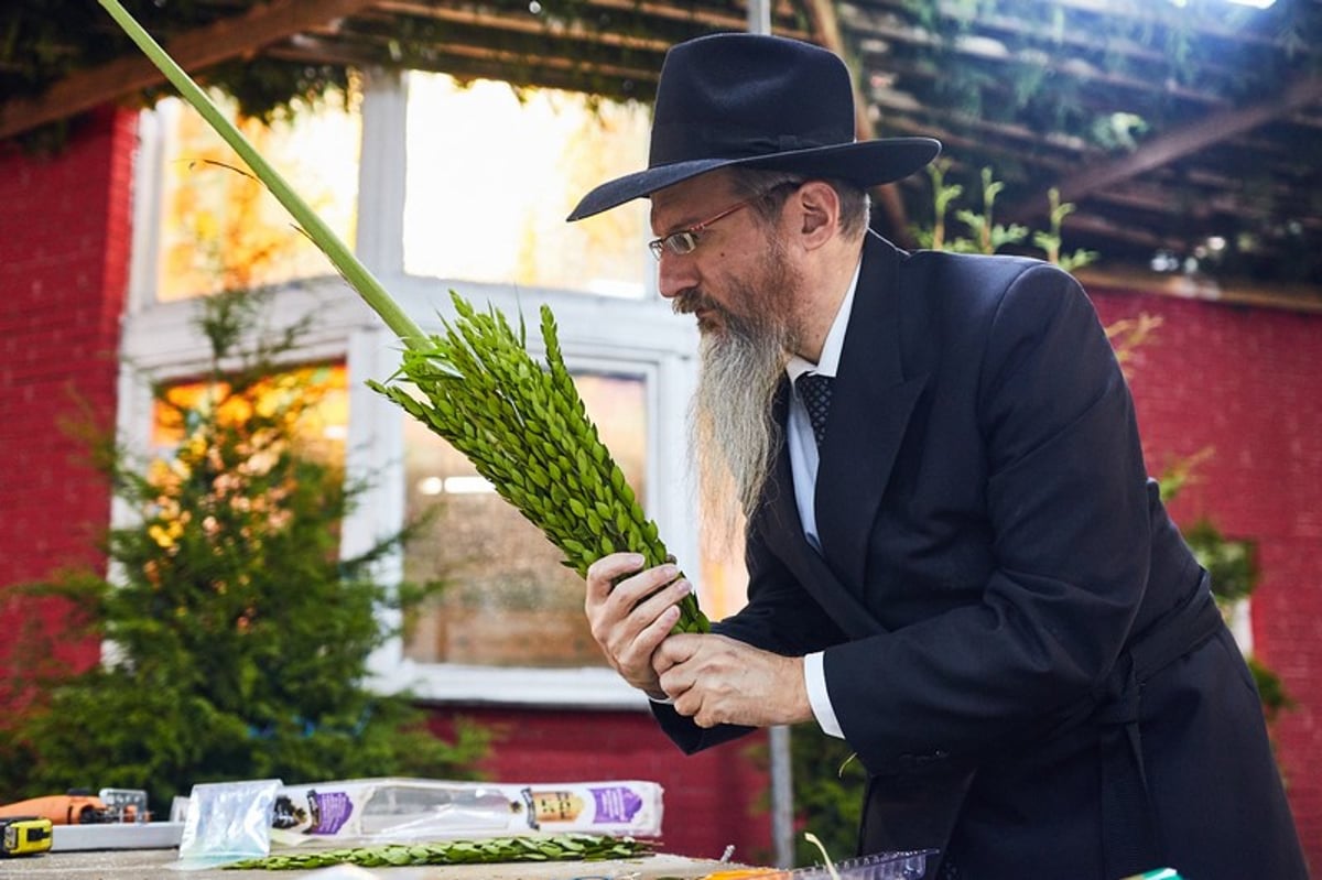
[[[77, 408], [70, 391], [95, 418], [114, 418], [134, 155], [134, 118], [116, 112], [97, 115], [56, 160], [0, 151], [0, 588], [94, 559], [108, 521], [107, 488], [59, 425]], [[1214, 449], [1177, 519], [1207, 515], [1257, 543], [1255, 653], [1294, 700], [1274, 735], [1307, 855], [1322, 864], [1322, 772], [1311, 760], [1322, 753], [1322, 316], [1091, 292], [1107, 322], [1163, 321], [1130, 369], [1150, 470]], [[3, 593], [0, 609], [0, 632], [13, 632], [19, 612]], [[66, 659], [94, 657], [95, 646], [74, 645]], [[685, 758], [642, 712], [453, 711], [500, 728], [493, 777], [656, 780], [668, 850], [769, 850], [752, 740]], [[438, 729], [449, 712], [438, 711]]]

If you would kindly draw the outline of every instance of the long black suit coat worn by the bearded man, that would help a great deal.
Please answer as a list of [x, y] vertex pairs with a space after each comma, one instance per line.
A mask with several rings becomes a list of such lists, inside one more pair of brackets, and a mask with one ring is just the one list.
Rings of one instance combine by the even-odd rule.
[[[781, 449], [748, 526], [748, 605], [717, 629], [825, 651], [836, 715], [873, 774], [863, 848], [936, 846], [965, 877], [1120, 876], [1103, 852], [1114, 822], [1093, 708], [1128, 649], [1207, 584], [1146, 476], [1081, 288], [1040, 262], [870, 235], [820, 452], [822, 552]], [[1157, 855], [1136, 858], [1199, 880], [1305, 876], [1252, 680], [1215, 622], [1130, 688], [1157, 781], [1142, 806]], [[656, 712], [686, 751], [744, 732]], [[1244, 852], [1255, 822], [1263, 843]]]

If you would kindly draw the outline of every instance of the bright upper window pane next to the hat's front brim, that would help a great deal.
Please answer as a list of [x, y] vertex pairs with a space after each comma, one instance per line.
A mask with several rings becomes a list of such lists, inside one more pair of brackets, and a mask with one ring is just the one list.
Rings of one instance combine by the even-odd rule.
[[564, 217], [646, 164], [645, 108], [414, 73], [407, 119], [407, 272], [642, 296], [646, 202]]

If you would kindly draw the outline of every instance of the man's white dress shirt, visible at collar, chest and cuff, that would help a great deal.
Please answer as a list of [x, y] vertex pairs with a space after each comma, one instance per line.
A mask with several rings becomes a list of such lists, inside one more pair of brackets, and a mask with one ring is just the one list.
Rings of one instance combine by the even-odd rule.
[[[858, 288], [859, 263], [854, 268], [854, 277], [849, 283], [836, 320], [832, 321], [826, 341], [822, 344], [821, 359], [817, 363], [806, 361], [797, 354], [785, 365], [785, 373], [793, 382], [805, 373], [833, 377], [839, 370], [839, 354], [845, 348], [845, 328], [849, 326], [849, 316], [854, 309], [854, 291]], [[817, 511], [813, 506], [813, 495], [817, 492], [817, 440], [813, 437], [813, 425], [808, 418], [798, 392], [791, 395], [789, 419], [785, 431], [785, 443], [789, 445], [789, 468], [795, 478], [795, 502], [798, 506], [798, 519], [804, 523], [804, 536], [817, 552], [821, 552], [821, 540], [817, 536]], [[813, 716], [822, 732], [843, 739], [839, 721], [836, 719], [836, 710], [830, 704], [830, 694], [826, 692], [826, 673], [822, 669], [822, 653], [814, 651], [804, 658], [804, 679], [808, 686], [808, 702], [812, 704]]]

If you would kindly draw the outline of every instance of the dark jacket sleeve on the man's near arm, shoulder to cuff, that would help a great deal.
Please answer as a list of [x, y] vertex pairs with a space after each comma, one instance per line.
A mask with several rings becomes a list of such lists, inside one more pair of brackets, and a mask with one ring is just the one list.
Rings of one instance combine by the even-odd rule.
[[1107, 677], [1144, 597], [1133, 406], [1077, 283], [1046, 264], [1018, 274], [969, 369], [995, 560], [981, 601], [825, 654], [836, 715], [873, 772], [977, 760], [1050, 723]]

